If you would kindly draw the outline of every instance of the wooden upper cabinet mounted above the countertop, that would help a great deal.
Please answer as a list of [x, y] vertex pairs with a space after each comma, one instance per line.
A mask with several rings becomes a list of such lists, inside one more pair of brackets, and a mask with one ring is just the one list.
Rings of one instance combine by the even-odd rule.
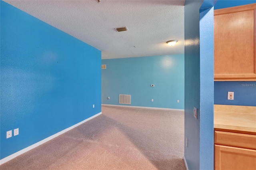
[[214, 81], [256, 81], [256, 3], [214, 10]]

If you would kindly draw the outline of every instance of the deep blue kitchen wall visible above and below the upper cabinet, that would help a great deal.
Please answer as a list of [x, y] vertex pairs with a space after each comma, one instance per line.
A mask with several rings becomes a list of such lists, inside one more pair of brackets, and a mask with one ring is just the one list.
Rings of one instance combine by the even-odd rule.
[[[214, 10], [256, 3], [255, 0], [218, 0]], [[244, 85], [243, 85], [244, 84]], [[215, 81], [214, 104], [256, 106], [256, 81]], [[234, 100], [228, 100], [228, 91], [234, 91]]]

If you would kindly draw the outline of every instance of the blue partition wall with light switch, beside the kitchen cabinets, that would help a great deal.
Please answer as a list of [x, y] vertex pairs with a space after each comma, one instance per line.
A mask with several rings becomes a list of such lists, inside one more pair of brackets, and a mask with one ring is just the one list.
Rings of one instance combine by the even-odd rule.
[[[189, 170], [214, 168], [214, 0], [186, 0], [184, 158]], [[198, 109], [198, 119], [193, 109]], [[188, 138], [188, 147], [186, 146]]]

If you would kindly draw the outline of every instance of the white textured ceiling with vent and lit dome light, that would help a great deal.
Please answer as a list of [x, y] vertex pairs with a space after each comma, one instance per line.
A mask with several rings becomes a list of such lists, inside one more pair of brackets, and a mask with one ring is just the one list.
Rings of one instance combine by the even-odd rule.
[[184, 53], [185, 0], [4, 1], [101, 50], [102, 59]]

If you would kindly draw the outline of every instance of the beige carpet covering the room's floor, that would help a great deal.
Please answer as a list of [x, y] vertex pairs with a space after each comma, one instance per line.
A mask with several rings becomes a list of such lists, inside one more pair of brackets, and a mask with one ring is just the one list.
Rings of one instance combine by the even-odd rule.
[[102, 107], [102, 115], [1, 170], [185, 170], [184, 112]]

